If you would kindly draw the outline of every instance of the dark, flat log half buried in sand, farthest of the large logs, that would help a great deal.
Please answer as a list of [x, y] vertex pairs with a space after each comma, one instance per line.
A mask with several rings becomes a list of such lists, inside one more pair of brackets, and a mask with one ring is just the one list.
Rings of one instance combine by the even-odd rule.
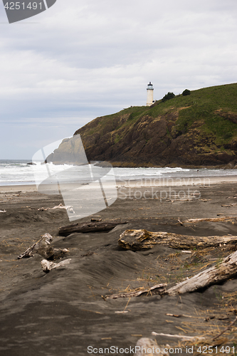
[[61, 226], [58, 231], [60, 236], [68, 236], [73, 232], [87, 233], [87, 232], [99, 232], [110, 231], [119, 224], [127, 224], [127, 221], [112, 221], [112, 222], [100, 222], [90, 221], [88, 223], [74, 223], [67, 226]]

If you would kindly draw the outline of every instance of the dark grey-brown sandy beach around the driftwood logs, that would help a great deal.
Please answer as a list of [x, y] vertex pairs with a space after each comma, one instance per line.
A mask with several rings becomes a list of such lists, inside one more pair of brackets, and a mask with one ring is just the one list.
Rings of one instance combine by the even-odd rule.
[[[100, 215], [102, 221], [127, 219], [127, 225], [117, 226], [109, 233], [68, 237], [58, 236], [58, 228], [69, 223], [64, 210], [38, 211], [42, 206], [63, 203], [60, 196], [33, 192], [34, 187], [31, 192], [29, 187], [1, 187], [0, 210], [6, 209], [6, 213], [0, 213], [0, 355], [95, 355], [96, 350], [88, 353], [89, 346], [102, 348], [102, 355], [132, 355], [122, 350], [105, 353], [104, 348], [134, 348], [140, 337], [156, 338], [159, 345], [181, 345], [182, 355], [186, 355], [185, 342], [179, 344], [177, 339], [154, 337], [152, 332], [205, 335], [206, 340], [221, 333], [237, 313], [237, 279], [177, 297], [142, 295], [105, 301], [101, 295], [157, 283], [174, 286], [233, 252], [228, 246], [191, 253], [161, 245], [139, 252], [122, 251], [117, 246], [125, 229], [196, 236], [236, 235], [237, 221], [183, 226], [178, 221], [237, 216], [237, 206], [221, 206], [237, 203], [236, 183], [223, 181], [223, 178], [216, 180], [210, 187], [189, 187], [201, 193], [199, 199], [189, 201], [168, 198], [161, 201], [154, 199], [151, 188], [135, 188], [133, 193], [147, 192], [146, 199], [135, 199], [131, 191], [127, 199], [119, 198], [95, 214]], [[187, 189], [185, 187], [185, 191]], [[128, 190], [120, 190], [120, 197], [124, 197], [125, 192]], [[135, 195], [138, 197], [138, 193]], [[90, 217], [81, 221], [90, 221]], [[69, 248], [70, 253], [65, 258], [72, 258], [66, 268], [47, 274], [41, 269], [41, 256], [17, 259], [46, 232], [53, 236], [53, 246]], [[167, 313], [190, 318], [175, 318]], [[236, 326], [223, 337], [226, 338], [224, 347], [234, 345]]]

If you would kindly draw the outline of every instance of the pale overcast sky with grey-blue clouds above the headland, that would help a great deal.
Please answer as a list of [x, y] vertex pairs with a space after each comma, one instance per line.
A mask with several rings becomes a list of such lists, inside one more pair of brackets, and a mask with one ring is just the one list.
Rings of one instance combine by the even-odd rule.
[[57, 0], [19, 23], [0, 3], [0, 159], [31, 159], [93, 120], [237, 82], [236, 0]]

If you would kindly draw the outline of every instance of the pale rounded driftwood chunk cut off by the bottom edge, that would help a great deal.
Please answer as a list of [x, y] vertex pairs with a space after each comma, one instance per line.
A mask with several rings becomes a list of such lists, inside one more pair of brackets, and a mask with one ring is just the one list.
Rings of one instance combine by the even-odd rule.
[[156, 340], [149, 339], [148, 337], [142, 337], [137, 340], [135, 346], [135, 356], [169, 356], [169, 345], [157, 345]]

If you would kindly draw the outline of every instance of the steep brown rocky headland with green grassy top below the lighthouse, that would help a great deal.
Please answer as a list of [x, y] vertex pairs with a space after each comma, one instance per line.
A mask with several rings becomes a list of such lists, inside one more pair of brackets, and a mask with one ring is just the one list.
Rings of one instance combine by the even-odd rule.
[[237, 83], [97, 117], [77, 134], [89, 161], [121, 167], [234, 167]]

